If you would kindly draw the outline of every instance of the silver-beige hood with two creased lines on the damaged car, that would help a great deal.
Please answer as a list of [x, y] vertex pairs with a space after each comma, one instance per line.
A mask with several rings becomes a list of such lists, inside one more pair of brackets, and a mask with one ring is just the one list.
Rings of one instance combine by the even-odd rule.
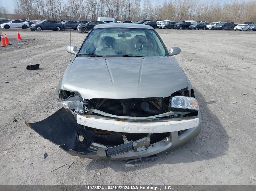
[[168, 97], [191, 87], [178, 62], [160, 57], [75, 57], [60, 80], [59, 89], [85, 99]]

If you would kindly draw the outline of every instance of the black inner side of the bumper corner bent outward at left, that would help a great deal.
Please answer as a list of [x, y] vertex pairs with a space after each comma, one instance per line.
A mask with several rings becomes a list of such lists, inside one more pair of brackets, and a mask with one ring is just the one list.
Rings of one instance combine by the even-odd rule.
[[[79, 126], [68, 109], [62, 107], [42, 121], [25, 124], [43, 138], [69, 151], [68, 153], [72, 151], [81, 155], [95, 154], [89, 150], [90, 144], [95, 140], [94, 133]], [[83, 135], [84, 140], [79, 141], [78, 135]]]

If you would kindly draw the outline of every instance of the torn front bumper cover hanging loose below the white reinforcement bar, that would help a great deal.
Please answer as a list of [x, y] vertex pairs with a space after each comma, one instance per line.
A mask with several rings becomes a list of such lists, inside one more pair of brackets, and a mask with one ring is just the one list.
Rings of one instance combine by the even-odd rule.
[[150, 144], [151, 133], [148, 133], [148, 136], [136, 141], [128, 141], [125, 135], [122, 135], [124, 143], [113, 147], [95, 142], [101, 135], [78, 125], [77, 119], [68, 109], [61, 108], [42, 121], [25, 124], [71, 155], [91, 159], [129, 160], [167, 152], [188, 143], [201, 130], [200, 112], [196, 119], [198, 120], [197, 126], [185, 130], [182, 134], [178, 131], [169, 132], [165, 139], [153, 144]]

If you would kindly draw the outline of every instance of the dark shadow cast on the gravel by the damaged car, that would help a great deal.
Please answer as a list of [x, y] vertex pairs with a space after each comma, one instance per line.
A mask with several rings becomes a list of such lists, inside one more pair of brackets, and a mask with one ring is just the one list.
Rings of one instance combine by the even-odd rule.
[[218, 117], [208, 109], [204, 97], [194, 89], [202, 113], [202, 130], [191, 142], [168, 153], [159, 154], [155, 161], [141, 161], [127, 164], [126, 161], [91, 160], [86, 170], [110, 167], [115, 171], [134, 171], [159, 164], [189, 163], [210, 160], [224, 155], [228, 150], [228, 134]]

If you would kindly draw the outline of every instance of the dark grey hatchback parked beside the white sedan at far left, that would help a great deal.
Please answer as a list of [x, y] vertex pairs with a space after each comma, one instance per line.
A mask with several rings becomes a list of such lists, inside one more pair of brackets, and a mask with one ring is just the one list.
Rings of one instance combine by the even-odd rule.
[[36, 24], [30, 25], [30, 30], [42, 31], [42, 30], [62, 30], [62, 24], [57, 21], [44, 20]]

